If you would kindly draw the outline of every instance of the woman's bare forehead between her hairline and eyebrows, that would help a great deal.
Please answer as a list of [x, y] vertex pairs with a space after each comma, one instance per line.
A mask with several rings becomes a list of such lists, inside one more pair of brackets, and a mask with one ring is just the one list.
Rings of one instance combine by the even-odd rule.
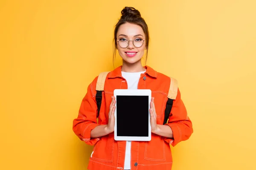
[[132, 23], [125, 23], [119, 26], [116, 36], [118, 37], [119, 34], [125, 34], [128, 37], [133, 37], [134, 35], [141, 34], [143, 35], [143, 37], [145, 37], [145, 34], [141, 26]]

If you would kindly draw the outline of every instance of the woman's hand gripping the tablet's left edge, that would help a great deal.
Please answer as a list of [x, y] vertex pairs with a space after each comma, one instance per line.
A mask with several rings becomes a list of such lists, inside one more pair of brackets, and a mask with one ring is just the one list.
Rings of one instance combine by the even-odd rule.
[[111, 104], [110, 104], [110, 107], [109, 107], [109, 112], [108, 112], [108, 125], [105, 129], [107, 131], [107, 133], [112, 133], [114, 131], [114, 127], [115, 127], [114, 113], [115, 113], [115, 110], [116, 110], [116, 107], [115, 107], [116, 100], [115, 100], [114, 96], [112, 96], [111, 98], [112, 98], [112, 101], [111, 101]]

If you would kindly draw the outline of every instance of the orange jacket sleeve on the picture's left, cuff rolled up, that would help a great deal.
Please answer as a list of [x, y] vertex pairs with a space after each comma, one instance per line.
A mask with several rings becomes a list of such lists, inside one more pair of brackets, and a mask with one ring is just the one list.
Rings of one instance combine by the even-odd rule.
[[95, 95], [93, 95], [93, 82], [88, 86], [87, 93], [82, 99], [78, 117], [73, 120], [73, 131], [86, 144], [94, 145], [99, 138], [91, 138], [90, 133], [97, 123], [97, 104]]

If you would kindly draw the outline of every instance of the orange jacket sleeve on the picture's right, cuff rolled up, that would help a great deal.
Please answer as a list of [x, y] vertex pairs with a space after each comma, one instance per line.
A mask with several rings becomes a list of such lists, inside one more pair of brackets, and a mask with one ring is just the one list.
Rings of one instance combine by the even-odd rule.
[[167, 124], [171, 127], [173, 138], [165, 138], [164, 140], [172, 146], [181, 141], [189, 139], [193, 133], [192, 122], [189, 119], [186, 107], [181, 100], [180, 90], [178, 89], [177, 97], [173, 101], [172, 111], [169, 115]]

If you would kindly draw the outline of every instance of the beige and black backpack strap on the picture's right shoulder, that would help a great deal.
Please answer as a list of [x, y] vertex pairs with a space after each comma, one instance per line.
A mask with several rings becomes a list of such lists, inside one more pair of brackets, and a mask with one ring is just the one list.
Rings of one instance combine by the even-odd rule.
[[168, 100], [166, 102], [166, 109], [164, 111], [163, 125], [165, 125], [168, 121], [169, 115], [172, 111], [173, 100], [176, 99], [177, 94], [178, 94], [178, 81], [171, 77], [171, 83], [170, 83], [169, 92], [167, 96]]

